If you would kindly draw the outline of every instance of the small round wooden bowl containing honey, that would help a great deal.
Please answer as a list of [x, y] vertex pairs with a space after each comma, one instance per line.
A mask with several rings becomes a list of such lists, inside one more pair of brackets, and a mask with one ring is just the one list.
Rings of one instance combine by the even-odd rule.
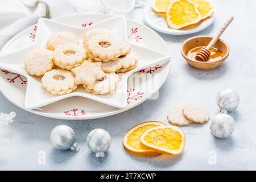
[[220, 51], [222, 51], [223, 56], [221, 57], [220, 60], [202, 62], [202, 61], [193, 60], [188, 57], [188, 51], [190, 51], [195, 47], [207, 46], [210, 43], [210, 40], [212, 40], [212, 38], [213, 38], [212, 36], [202, 35], [202, 36], [195, 36], [193, 38], [189, 38], [185, 40], [185, 42], [181, 46], [181, 55], [188, 62], [188, 64], [192, 65], [192, 67], [195, 67], [197, 69], [210, 70], [218, 67], [226, 60], [226, 58], [229, 56], [229, 46], [222, 39], [218, 39], [217, 43], [214, 44], [213, 46], [214, 48], [217, 48]]

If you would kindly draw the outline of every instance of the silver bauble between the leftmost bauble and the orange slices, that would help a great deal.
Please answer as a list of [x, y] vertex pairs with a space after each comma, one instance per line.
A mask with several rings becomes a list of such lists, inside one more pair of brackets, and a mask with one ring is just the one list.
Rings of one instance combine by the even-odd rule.
[[96, 153], [96, 157], [104, 157], [107, 150], [111, 146], [111, 136], [104, 129], [94, 129], [90, 131], [86, 138], [86, 142], [91, 151]]

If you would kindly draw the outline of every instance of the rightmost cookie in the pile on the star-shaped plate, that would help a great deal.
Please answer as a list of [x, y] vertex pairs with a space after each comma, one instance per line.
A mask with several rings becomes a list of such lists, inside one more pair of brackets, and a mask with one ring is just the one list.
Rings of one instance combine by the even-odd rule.
[[138, 56], [134, 51], [130, 51], [127, 55], [119, 56], [118, 59], [122, 64], [122, 67], [116, 71], [116, 73], [123, 73], [134, 69], [138, 62]]

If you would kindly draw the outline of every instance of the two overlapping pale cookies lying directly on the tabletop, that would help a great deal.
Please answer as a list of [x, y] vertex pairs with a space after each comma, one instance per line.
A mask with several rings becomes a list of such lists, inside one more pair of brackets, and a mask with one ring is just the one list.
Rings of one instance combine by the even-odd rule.
[[199, 104], [187, 104], [171, 109], [167, 117], [172, 125], [187, 126], [192, 122], [204, 123], [209, 121], [210, 113], [207, 108]]

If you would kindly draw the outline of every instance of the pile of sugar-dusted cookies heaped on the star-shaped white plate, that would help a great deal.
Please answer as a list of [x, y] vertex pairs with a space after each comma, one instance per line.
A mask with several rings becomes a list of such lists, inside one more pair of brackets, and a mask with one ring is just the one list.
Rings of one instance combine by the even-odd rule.
[[119, 82], [117, 73], [136, 67], [138, 57], [130, 44], [105, 28], [85, 32], [82, 44], [71, 32], [52, 34], [47, 49], [36, 49], [24, 57], [25, 68], [32, 76], [43, 76], [48, 92], [63, 95], [78, 85], [92, 94], [113, 93]]

